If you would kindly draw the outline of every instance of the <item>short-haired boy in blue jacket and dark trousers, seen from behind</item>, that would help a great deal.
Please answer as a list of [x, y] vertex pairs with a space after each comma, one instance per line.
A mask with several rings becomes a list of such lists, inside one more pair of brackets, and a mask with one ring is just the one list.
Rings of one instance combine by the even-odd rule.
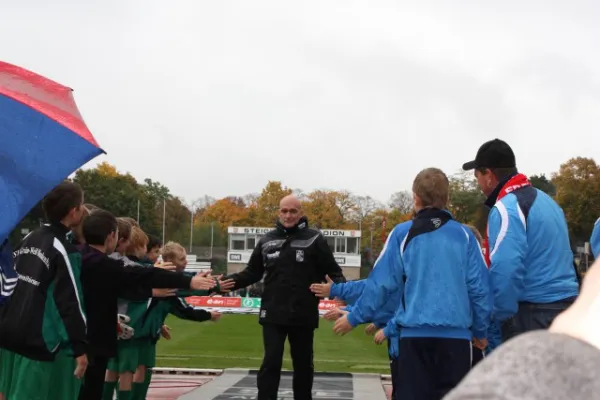
[[399, 291], [395, 316], [375, 339], [400, 338], [397, 398], [438, 400], [471, 369], [472, 338], [485, 347], [493, 297], [477, 239], [446, 211], [446, 175], [421, 171], [413, 196], [415, 219], [394, 227], [363, 295], [334, 332], [372, 320]]

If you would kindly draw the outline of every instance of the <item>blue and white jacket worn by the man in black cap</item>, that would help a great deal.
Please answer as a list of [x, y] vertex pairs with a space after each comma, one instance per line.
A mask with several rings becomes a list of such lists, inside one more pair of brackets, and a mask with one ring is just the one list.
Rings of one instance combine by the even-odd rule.
[[496, 202], [488, 217], [488, 238], [495, 319], [515, 315], [519, 302], [577, 296], [567, 222], [546, 193], [529, 186]]

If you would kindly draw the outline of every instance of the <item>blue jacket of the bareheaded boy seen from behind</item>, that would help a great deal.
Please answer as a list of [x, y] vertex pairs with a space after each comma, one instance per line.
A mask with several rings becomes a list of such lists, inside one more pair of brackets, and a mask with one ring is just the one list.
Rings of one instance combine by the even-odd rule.
[[473, 233], [447, 211], [421, 210], [391, 232], [348, 321], [372, 320], [399, 291], [386, 337], [486, 338], [492, 311], [489, 273]]

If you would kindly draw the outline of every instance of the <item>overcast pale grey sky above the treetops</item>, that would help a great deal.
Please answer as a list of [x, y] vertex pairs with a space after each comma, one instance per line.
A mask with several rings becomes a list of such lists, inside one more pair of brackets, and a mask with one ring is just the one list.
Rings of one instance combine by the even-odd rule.
[[186, 200], [281, 180], [387, 201], [495, 137], [528, 174], [600, 161], [597, 0], [0, 4], [0, 58], [74, 88], [90, 166]]

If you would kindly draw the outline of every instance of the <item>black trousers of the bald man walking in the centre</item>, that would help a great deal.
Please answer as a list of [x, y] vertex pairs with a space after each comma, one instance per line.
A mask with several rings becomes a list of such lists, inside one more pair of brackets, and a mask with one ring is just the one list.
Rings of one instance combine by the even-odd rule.
[[313, 338], [315, 330], [310, 327], [263, 324], [265, 355], [258, 371], [256, 384], [258, 400], [277, 400], [285, 339], [290, 342], [294, 400], [312, 400], [313, 386]]

